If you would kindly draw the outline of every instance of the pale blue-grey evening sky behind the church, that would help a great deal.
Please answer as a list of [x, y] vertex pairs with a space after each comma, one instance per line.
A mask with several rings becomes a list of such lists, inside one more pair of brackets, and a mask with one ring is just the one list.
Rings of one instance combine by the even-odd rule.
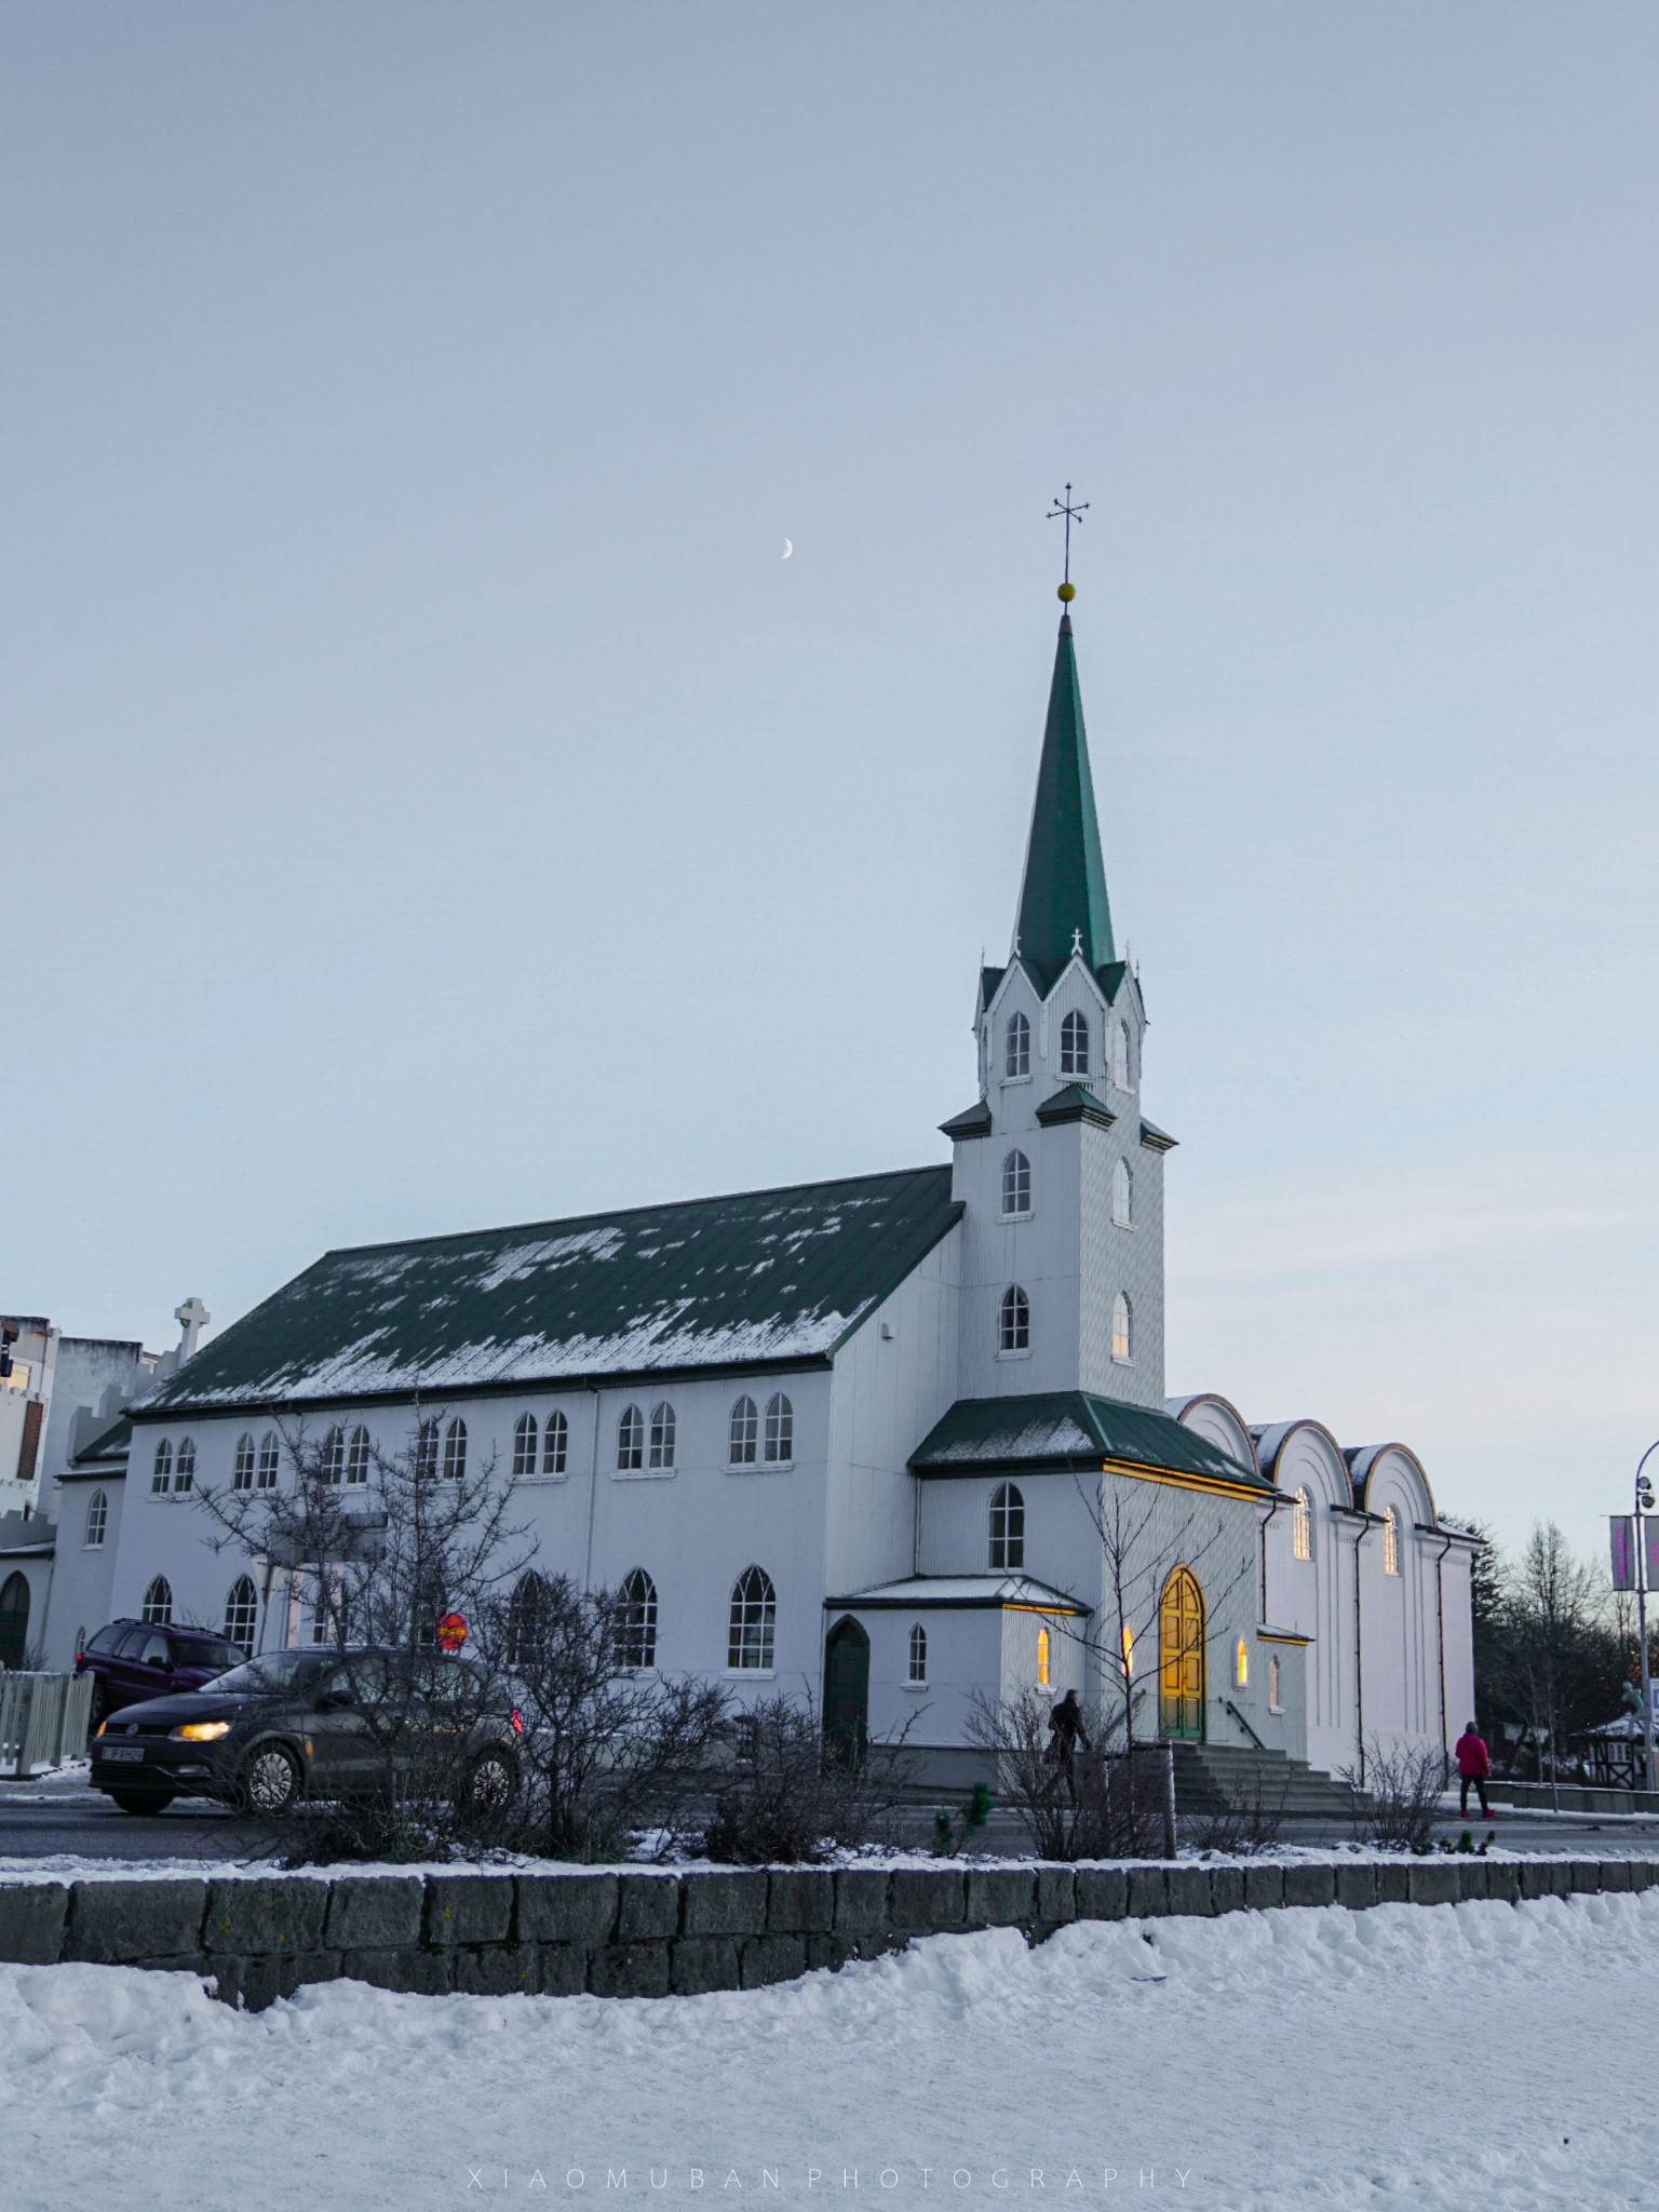
[[0, 1298], [942, 1159], [1071, 478], [1170, 1389], [1599, 1551], [1657, 210], [1648, 0], [2, 4]]

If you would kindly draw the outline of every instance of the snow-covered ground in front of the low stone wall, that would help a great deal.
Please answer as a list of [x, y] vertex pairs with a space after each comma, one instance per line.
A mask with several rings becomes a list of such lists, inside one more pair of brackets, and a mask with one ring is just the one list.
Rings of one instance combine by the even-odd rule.
[[0, 2170], [9, 2212], [1601, 2212], [1659, 2199], [1657, 2042], [1659, 1891], [936, 1936], [661, 2002], [323, 1984], [243, 2015], [188, 1975], [0, 1966]]

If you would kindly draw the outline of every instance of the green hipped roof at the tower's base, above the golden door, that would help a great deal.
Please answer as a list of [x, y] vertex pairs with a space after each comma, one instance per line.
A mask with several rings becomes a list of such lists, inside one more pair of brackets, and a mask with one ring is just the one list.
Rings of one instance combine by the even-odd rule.
[[1272, 1482], [1219, 1451], [1170, 1413], [1095, 1391], [1035, 1391], [1029, 1398], [958, 1398], [911, 1453], [918, 1475], [971, 1475], [993, 1467], [1093, 1469], [1124, 1460], [1172, 1475], [1206, 1475], [1241, 1489]]

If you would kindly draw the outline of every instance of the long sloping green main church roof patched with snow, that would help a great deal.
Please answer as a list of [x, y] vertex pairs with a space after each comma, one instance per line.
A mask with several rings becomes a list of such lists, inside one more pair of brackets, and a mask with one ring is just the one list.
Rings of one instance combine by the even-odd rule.
[[938, 1166], [325, 1252], [142, 1418], [827, 1360], [960, 1214]]

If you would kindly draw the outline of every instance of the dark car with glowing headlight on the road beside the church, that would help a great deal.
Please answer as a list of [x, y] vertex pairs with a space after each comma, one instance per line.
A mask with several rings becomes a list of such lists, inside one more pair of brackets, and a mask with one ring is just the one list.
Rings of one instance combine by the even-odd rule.
[[91, 1743], [93, 1790], [122, 1812], [206, 1796], [270, 1818], [442, 1776], [495, 1812], [518, 1794], [518, 1710], [469, 1659], [283, 1650], [113, 1714]]

